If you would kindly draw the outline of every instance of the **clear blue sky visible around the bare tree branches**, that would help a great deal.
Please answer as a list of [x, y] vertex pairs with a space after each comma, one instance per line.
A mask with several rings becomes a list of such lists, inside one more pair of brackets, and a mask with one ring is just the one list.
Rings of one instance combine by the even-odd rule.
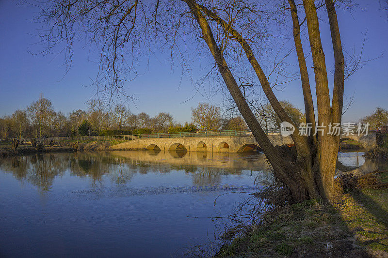
[[[370, 114], [376, 106], [388, 109], [388, 11], [380, 10], [378, 0], [360, 3], [364, 5], [355, 8], [352, 14], [338, 11], [345, 49], [350, 52], [356, 49], [357, 52], [363, 33], [367, 31], [364, 59], [383, 56], [368, 62], [345, 81], [345, 95], [355, 93], [355, 98], [343, 121], [356, 121]], [[86, 102], [93, 96], [94, 90], [86, 85], [97, 74], [96, 63], [89, 61], [88, 48], [82, 44], [74, 48], [72, 67], [66, 75], [62, 58], [29, 53], [29, 50], [36, 49], [33, 44], [38, 39], [33, 34], [41, 27], [31, 20], [34, 11], [31, 6], [17, 4], [17, 1], [0, 0], [0, 116], [25, 108], [41, 94], [53, 102], [55, 110], [65, 114], [75, 109], [86, 109]], [[326, 21], [321, 22], [321, 27], [323, 49], [329, 63], [332, 61], [330, 30]], [[190, 120], [191, 107], [197, 102], [222, 102], [220, 94], [212, 94], [208, 98], [209, 91], [197, 92], [191, 81], [182, 77], [179, 68], [172, 68], [164, 60], [163, 55], [152, 56], [146, 73], [131, 82], [130, 93], [136, 98], [129, 103], [132, 113], [144, 111], [153, 116], [161, 111], [169, 112], [182, 122]], [[309, 74], [313, 74], [311, 69]], [[312, 78], [312, 88], [313, 83]], [[280, 100], [287, 99], [303, 108], [299, 81], [290, 83], [275, 94]]]

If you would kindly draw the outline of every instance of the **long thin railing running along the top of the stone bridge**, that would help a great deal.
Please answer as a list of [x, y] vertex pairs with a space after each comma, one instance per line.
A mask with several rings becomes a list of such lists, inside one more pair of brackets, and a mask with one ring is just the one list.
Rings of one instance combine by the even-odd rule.
[[[356, 132], [357, 125], [351, 124], [347, 125], [348, 128], [353, 128]], [[271, 134], [280, 134], [278, 128], [269, 128], [264, 129], [264, 132], [267, 135]], [[343, 126], [341, 128], [341, 133], [343, 132]], [[380, 132], [380, 127], [369, 126], [368, 132], [375, 133]], [[155, 134], [140, 134], [140, 135], [117, 135], [117, 136], [76, 136], [76, 137], [48, 137], [42, 138], [41, 140], [54, 140], [54, 141], [83, 141], [83, 140], [92, 140], [92, 141], [128, 141], [134, 139], [151, 139], [151, 138], [180, 138], [180, 137], [248, 137], [252, 136], [250, 130], [228, 130], [228, 131], [202, 131], [202, 132], [182, 132], [182, 133], [155, 133]], [[25, 141], [30, 141], [30, 139], [24, 139]]]

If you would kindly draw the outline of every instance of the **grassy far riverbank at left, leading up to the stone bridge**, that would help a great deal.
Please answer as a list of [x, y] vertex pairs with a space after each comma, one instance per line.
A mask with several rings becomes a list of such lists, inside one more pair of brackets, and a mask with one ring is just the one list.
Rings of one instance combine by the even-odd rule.
[[31, 143], [26, 143], [18, 145], [16, 151], [14, 151], [11, 142], [1, 142], [0, 158], [40, 152], [104, 151], [109, 150], [110, 146], [122, 142], [124, 141], [60, 141], [51, 144], [49, 142], [43, 142], [41, 146], [38, 143], [36, 147], [32, 147]]

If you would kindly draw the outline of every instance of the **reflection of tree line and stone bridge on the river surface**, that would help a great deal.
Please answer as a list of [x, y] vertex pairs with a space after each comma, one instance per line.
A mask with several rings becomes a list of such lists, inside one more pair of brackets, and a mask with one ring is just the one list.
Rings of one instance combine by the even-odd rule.
[[71, 175], [90, 178], [92, 184], [103, 183], [104, 177], [116, 184], [126, 184], [136, 173], [183, 170], [193, 174], [194, 184], [197, 185], [219, 183], [223, 174], [239, 175], [247, 168], [252, 171], [265, 170], [260, 167], [265, 160], [258, 155], [241, 158], [228, 153], [189, 154], [186, 153], [184, 159], [173, 158], [169, 152], [120, 152], [115, 155], [113, 152], [83, 151], [36, 154], [3, 159], [1, 168], [12, 172], [18, 180], [28, 180], [44, 190], [51, 188], [55, 177], [62, 176], [66, 170]]

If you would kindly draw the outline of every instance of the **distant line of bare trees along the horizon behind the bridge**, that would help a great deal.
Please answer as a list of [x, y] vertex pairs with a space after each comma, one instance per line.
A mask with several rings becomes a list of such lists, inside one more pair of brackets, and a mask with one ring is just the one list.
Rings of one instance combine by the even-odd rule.
[[74, 110], [66, 116], [61, 111], [55, 111], [53, 103], [44, 97], [25, 109], [18, 109], [12, 115], [0, 118], [2, 139], [242, 129], [248, 127], [240, 116], [223, 117], [219, 107], [207, 103], [198, 103], [192, 108], [192, 121], [185, 124], [177, 122], [165, 112], [150, 117], [145, 112], [132, 114], [123, 104], [108, 109], [100, 100], [88, 102], [87, 110]]

